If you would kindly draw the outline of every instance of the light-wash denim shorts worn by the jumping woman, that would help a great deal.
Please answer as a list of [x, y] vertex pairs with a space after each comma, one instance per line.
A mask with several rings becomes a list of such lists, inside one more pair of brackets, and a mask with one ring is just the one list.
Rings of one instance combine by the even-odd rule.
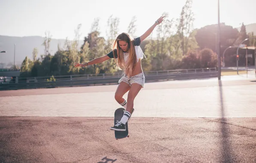
[[125, 82], [131, 86], [133, 83], [137, 83], [144, 88], [144, 83], [145, 83], [145, 76], [144, 73], [141, 72], [140, 74], [130, 76], [128, 77], [127, 75], [123, 75], [122, 78], [119, 79], [118, 83]]

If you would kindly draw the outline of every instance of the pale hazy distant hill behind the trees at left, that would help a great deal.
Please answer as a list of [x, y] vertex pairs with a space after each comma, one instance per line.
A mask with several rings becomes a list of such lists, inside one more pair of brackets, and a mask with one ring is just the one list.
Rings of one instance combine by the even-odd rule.
[[[43, 44], [44, 37], [41, 36], [0, 36], [0, 51], [6, 51], [6, 53], [0, 53], [0, 63], [4, 67], [13, 65], [14, 61], [14, 44], [15, 44], [15, 65], [20, 66], [25, 57], [32, 59], [33, 48], [38, 49], [38, 56], [44, 54]], [[50, 42], [50, 54], [54, 55], [58, 50], [58, 44], [61, 48], [64, 47], [65, 39], [52, 39]], [[79, 40], [79, 47], [82, 45], [83, 40]], [[0, 68], [1, 66], [0, 65]]]

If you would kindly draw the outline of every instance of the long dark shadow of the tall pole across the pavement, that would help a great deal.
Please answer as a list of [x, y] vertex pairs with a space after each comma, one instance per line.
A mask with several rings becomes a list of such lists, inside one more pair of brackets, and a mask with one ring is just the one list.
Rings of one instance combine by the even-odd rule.
[[221, 120], [220, 120], [220, 130], [221, 130], [221, 143], [220, 143], [220, 163], [234, 163], [235, 157], [232, 156], [232, 145], [229, 139], [229, 124], [227, 118], [225, 118], [225, 108], [223, 103], [223, 91], [222, 91], [222, 82], [219, 80], [219, 100], [221, 107]]

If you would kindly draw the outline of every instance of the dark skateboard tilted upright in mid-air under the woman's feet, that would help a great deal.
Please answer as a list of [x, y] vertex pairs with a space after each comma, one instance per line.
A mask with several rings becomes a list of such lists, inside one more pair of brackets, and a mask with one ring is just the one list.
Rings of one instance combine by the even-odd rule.
[[[115, 118], [114, 118], [114, 125], [116, 124], [116, 121], [120, 121], [121, 118], [123, 117], [125, 112], [124, 108], [118, 108], [115, 111]], [[126, 122], [125, 124], [125, 131], [116, 131], [115, 130], [115, 138], [116, 139], [122, 139], [122, 138], [126, 138], [129, 137], [129, 132], [128, 132], [128, 122]]]

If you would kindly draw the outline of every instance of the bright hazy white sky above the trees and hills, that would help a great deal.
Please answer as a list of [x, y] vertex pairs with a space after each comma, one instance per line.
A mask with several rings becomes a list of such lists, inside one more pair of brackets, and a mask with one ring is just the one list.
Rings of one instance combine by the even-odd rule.
[[[105, 36], [107, 19], [120, 18], [119, 32], [127, 32], [131, 17], [137, 17], [135, 35], [143, 34], [168, 12], [178, 18], [186, 0], [0, 0], [0, 35], [44, 36], [46, 30], [55, 39], [74, 38], [82, 24], [82, 37], [90, 32], [94, 18], [100, 18], [101, 36]], [[220, 21], [239, 27], [256, 23], [256, 0], [220, 0]], [[216, 24], [217, 0], [193, 0], [194, 28]], [[80, 39], [83, 39], [83, 38]]]

